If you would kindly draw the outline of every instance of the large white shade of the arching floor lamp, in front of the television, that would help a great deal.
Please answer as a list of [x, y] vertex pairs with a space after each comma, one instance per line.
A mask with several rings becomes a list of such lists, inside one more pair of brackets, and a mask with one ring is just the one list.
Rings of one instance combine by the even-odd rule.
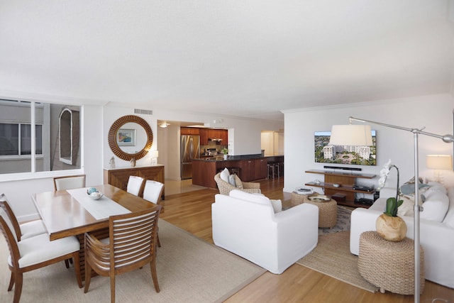
[[333, 125], [329, 145], [372, 146], [369, 125]]

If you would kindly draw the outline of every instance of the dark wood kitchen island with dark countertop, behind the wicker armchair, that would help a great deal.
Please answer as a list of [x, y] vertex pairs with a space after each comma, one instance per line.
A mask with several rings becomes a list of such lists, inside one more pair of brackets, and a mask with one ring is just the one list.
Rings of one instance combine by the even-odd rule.
[[[282, 157], [282, 160], [284, 156]], [[269, 157], [262, 155], [234, 155], [227, 160], [220, 157], [209, 157], [192, 160], [192, 184], [216, 188], [214, 175], [227, 167], [239, 169], [238, 177], [244, 182], [265, 179], [267, 177], [267, 163]], [[272, 158], [276, 158], [272, 157]], [[273, 159], [274, 160], [274, 159]]]

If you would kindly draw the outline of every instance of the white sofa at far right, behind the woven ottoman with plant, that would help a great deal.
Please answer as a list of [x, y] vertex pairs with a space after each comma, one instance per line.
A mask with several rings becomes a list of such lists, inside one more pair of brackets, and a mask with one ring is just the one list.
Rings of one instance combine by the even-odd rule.
[[[440, 192], [425, 194], [428, 199], [423, 202], [420, 212], [420, 243], [424, 250], [424, 274], [426, 280], [454, 288], [454, 187], [448, 188], [443, 197]], [[447, 201], [447, 202], [446, 202]], [[369, 208], [358, 208], [352, 211], [350, 221], [350, 252], [358, 255], [360, 234], [364, 231], [375, 231], [375, 221], [383, 213], [386, 198], [377, 199]], [[404, 205], [402, 205], [404, 206]], [[410, 206], [404, 210], [399, 207], [399, 216], [404, 219], [408, 238], [414, 238], [414, 217]], [[405, 207], [405, 206], [404, 206]], [[446, 209], [446, 211], [445, 211]], [[438, 211], [437, 211], [438, 210]], [[440, 211], [442, 214], [440, 215]], [[443, 214], [445, 211], [445, 214]], [[438, 212], [438, 213], [437, 213]]]

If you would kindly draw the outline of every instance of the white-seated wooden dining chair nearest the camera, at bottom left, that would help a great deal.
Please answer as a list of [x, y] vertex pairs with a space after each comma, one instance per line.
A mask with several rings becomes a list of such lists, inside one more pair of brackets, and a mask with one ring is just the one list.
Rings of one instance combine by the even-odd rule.
[[11, 270], [11, 279], [8, 291], [11, 291], [14, 286], [13, 303], [18, 303], [21, 299], [24, 272], [43, 268], [68, 258], [74, 259], [77, 284], [82, 287], [79, 267], [80, 244], [76, 237], [50, 241], [48, 235], [43, 233], [18, 241], [13, 232], [13, 224], [2, 208], [0, 209], [0, 229], [9, 248], [8, 265]]

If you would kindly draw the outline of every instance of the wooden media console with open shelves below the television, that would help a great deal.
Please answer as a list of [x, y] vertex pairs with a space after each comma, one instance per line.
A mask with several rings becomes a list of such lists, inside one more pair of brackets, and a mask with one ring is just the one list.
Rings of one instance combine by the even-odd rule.
[[[372, 190], [360, 190], [353, 189], [356, 184], [356, 179], [372, 179], [375, 175], [372, 174], [361, 174], [358, 172], [331, 172], [328, 170], [306, 170], [310, 174], [324, 175], [324, 182], [308, 182], [305, 185], [313, 187], [321, 187], [324, 189], [324, 193], [328, 196], [333, 195], [345, 195], [345, 201], [338, 201], [339, 205], [350, 206], [350, 207], [364, 207], [369, 208], [370, 204], [355, 203], [356, 193], [360, 194], [374, 194], [375, 189]], [[335, 187], [334, 184], [339, 184], [339, 187]]]

